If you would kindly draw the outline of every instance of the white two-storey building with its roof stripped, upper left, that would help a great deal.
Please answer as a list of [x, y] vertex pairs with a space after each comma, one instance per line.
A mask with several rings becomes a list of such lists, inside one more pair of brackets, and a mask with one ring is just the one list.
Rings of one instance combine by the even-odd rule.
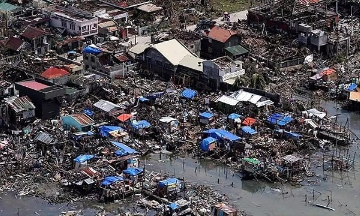
[[66, 31], [78, 36], [98, 34], [98, 18], [81, 10], [50, 6], [42, 9], [42, 15], [50, 19], [50, 26], [66, 28]]

